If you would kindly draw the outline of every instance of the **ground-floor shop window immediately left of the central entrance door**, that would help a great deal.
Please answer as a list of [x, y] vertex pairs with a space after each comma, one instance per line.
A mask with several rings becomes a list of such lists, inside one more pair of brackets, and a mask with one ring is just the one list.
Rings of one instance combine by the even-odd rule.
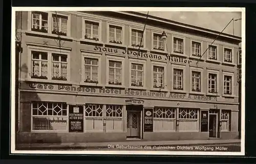
[[106, 105], [106, 132], [122, 131], [122, 105]]

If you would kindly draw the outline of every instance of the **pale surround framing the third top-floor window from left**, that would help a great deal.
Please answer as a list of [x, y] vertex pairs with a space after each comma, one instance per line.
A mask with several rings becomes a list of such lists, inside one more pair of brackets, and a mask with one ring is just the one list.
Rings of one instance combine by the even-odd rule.
[[[99, 36], [99, 40], [92, 40], [92, 39], [86, 39], [84, 38], [84, 36], [86, 35], [86, 21], [91, 21], [91, 22], [95, 22], [99, 24], [99, 29], [98, 29], [98, 36]], [[102, 40], [102, 21], [98, 20], [98, 19], [93, 19], [93, 18], [89, 18], [89, 17], [82, 17], [82, 36], [81, 36], [82, 40], [87, 40], [89, 42], [101, 42]]]

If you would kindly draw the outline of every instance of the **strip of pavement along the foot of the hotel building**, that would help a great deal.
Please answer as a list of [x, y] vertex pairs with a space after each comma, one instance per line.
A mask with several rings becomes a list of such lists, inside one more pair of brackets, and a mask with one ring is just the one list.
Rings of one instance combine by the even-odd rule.
[[209, 139], [209, 140], [126, 140], [124, 142], [99, 143], [43, 143], [17, 144], [16, 150], [71, 150], [71, 149], [109, 149], [122, 146], [213, 146], [213, 145], [240, 145], [240, 139]]

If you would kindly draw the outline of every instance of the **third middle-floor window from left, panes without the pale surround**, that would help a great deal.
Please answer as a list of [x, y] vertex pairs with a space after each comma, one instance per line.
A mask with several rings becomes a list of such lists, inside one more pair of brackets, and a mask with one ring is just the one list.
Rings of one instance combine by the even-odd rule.
[[98, 59], [84, 57], [84, 71], [86, 83], [98, 83]]

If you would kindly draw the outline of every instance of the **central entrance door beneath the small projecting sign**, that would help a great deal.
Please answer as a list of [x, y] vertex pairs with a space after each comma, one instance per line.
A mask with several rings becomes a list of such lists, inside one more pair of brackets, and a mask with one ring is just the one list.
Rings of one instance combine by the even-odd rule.
[[127, 111], [126, 136], [140, 137], [140, 112]]

